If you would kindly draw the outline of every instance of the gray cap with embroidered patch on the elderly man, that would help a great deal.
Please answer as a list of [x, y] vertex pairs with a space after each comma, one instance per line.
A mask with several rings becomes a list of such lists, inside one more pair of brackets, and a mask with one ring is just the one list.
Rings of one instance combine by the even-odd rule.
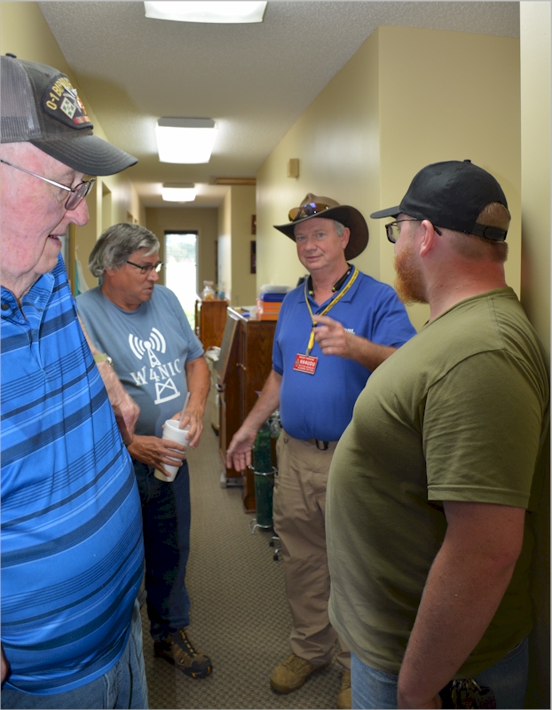
[[137, 158], [94, 136], [67, 75], [8, 54], [1, 58], [2, 143], [32, 143], [86, 175], [113, 175]]

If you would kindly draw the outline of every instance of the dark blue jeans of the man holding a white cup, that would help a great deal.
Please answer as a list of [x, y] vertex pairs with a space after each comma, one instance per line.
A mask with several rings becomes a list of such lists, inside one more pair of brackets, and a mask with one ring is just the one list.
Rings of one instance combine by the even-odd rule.
[[142, 503], [147, 615], [155, 641], [190, 624], [185, 568], [190, 553], [190, 476], [187, 461], [173, 483], [154, 467], [132, 460]]

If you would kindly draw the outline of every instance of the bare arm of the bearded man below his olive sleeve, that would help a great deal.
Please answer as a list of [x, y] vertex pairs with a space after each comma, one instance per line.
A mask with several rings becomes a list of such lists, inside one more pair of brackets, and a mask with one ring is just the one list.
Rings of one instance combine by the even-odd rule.
[[[510, 527], [521, 529], [523, 540], [524, 511], [520, 513], [514, 514]], [[445, 539], [431, 566], [398, 675], [398, 707], [430, 707], [427, 703], [453, 678], [484, 635], [508, 587], [517, 540], [510, 552], [496, 552], [485, 531], [478, 542], [474, 533], [471, 537], [466, 533], [465, 544], [461, 531]]]

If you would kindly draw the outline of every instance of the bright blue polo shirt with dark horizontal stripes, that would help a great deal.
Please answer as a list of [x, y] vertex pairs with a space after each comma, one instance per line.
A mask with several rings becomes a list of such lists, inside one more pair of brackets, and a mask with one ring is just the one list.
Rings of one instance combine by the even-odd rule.
[[52, 695], [122, 655], [142, 576], [141, 509], [61, 257], [21, 308], [2, 288], [0, 314], [7, 685]]

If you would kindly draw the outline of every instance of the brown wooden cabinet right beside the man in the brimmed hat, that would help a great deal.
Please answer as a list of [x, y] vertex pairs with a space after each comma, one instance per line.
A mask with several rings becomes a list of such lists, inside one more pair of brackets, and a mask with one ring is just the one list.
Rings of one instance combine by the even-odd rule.
[[228, 309], [225, 335], [218, 360], [218, 388], [220, 391], [220, 455], [226, 477], [241, 476], [242, 500], [247, 512], [255, 512], [253, 471], [238, 473], [226, 469], [226, 448], [241, 423], [251, 411], [272, 370], [272, 340], [275, 320], [244, 318]]

